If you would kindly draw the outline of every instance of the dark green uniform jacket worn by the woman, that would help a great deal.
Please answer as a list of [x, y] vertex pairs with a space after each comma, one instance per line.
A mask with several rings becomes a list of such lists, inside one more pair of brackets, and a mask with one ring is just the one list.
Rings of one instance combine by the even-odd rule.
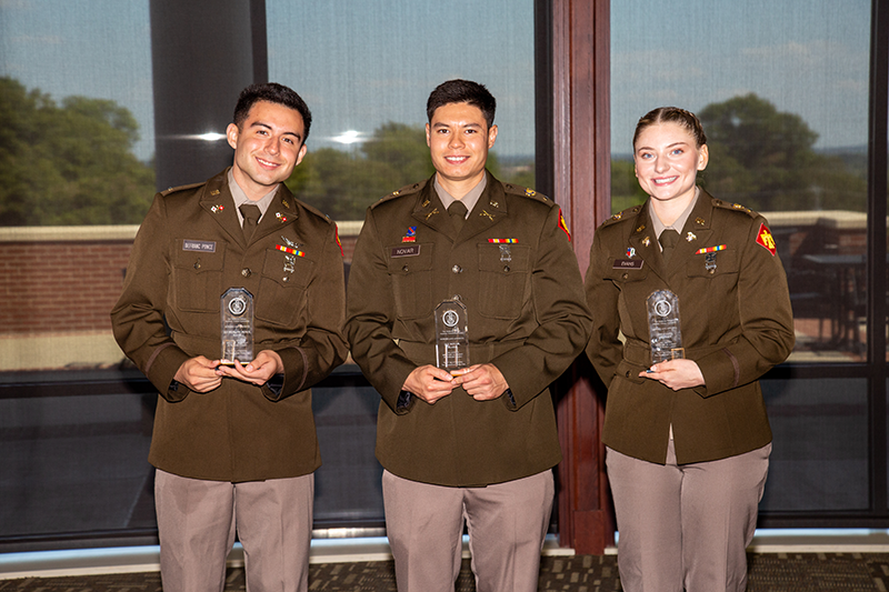
[[[608, 387], [602, 440], [661, 464], [670, 425], [680, 464], [771, 442], [757, 379], [793, 348], [787, 279], [761, 215], [701, 191], [680, 237], [666, 265], [648, 204], [616, 214], [596, 231], [586, 279], [587, 354]], [[679, 297], [686, 358], [706, 387], [672, 391], [639, 378], [651, 365], [646, 300], [656, 290]]]

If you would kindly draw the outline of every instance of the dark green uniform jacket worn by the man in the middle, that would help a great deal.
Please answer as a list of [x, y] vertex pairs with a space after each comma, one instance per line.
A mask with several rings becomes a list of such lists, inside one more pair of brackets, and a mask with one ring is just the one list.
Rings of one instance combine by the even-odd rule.
[[[368, 209], [349, 277], [352, 358], [382, 401], [377, 458], [396, 475], [451, 486], [532, 475], [561, 460], [549, 384], [582, 351], [590, 318], [560, 209], [531, 190], [488, 183], [459, 235], [432, 179]], [[401, 387], [436, 363], [434, 308], [468, 310], [470, 364], [491, 362], [511, 393], [462, 388], [430, 405]]]

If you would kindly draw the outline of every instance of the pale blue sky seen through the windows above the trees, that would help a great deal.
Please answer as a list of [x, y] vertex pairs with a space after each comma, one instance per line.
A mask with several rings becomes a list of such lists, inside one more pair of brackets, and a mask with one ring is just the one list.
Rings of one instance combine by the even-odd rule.
[[[346, 132], [361, 139], [388, 121], [422, 126], [429, 92], [459, 77], [498, 99], [496, 151], [533, 153], [532, 0], [267, 10], [270, 78], [311, 107], [312, 146], [348, 148]], [[865, 144], [869, 21], [868, 0], [613, 1], [612, 151], [631, 151], [655, 107], [698, 111], [749, 92], [799, 113], [818, 148]], [[153, 153], [148, 0], [0, 0], [0, 76], [57, 100], [117, 101], [140, 122], [139, 158]]]

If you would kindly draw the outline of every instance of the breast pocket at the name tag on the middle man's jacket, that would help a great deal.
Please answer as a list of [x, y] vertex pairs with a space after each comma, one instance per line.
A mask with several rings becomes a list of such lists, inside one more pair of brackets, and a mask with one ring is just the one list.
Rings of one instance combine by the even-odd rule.
[[399, 319], [432, 314], [433, 247], [432, 243], [406, 243], [386, 248]]

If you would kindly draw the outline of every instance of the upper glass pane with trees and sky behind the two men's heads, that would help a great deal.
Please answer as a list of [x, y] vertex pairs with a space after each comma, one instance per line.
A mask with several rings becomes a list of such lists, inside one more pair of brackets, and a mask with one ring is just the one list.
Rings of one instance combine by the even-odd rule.
[[267, 10], [269, 78], [312, 110], [309, 153], [289, 183], [299, 198], [338, 222], [363, 220], [377, 199], [428, 178], [426, 100], [452, 78], [497, 99], [493, 174], [533, 185], [532, 0], [268, 0]]

